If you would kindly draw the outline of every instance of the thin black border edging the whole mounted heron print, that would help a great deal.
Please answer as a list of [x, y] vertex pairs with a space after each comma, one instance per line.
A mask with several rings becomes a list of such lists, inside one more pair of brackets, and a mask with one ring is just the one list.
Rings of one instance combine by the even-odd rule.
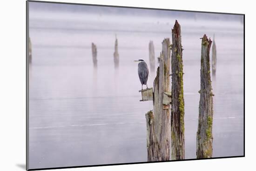
[[[150, 9], [162, 11], [177, 11], [177, 12], [191, 12], [191, 13], [213, 13], [213, 14], [228, 14], [228, 15], [242, 15], [243, 16], [243, 155], [242, 156], [225, 156], [213, 158], [189, 158], [182, 160], [167, 160], [167, 161], [154, 161], [154, 162], [134, 162], [134, 163], [116, 163], [116, 164], [102, 164], [102, 165], [79, 165], [79, 166], [66, 166], [66, 167], [48, 167], [29, 169], [29, 61], [28, 61], [28, 35], [29, 35], [29, 2], [39, 3], [53, 3], [53, 4], [67, 4], [67, 5], [83, 5], [83, 6], [105, 6], [105, 7], [119, 7], [119, 8], [134, 8], [134, 9]], [[220, 158], [242, 158], [245, 157], [245, 14], [243, 13], [218, 13], [206, 11], [190, 11], [190, 10], [177, 10], [177, 9], [163, 9], [163, 8], [149, 8], [149, 7], [135, 7], [135, 6], [113, 6], [113, 5], [98, 5], [98, 4], [82, 4], [71, 2], [52, 2], [52, 1], [39, 1], [39, 0], [26, 0], [26, 170], [39, 171], [39, 170], [52, 170], [52, 169], [69, 169], [69, 168], [82, 168], [82, 167], [97, 167], [97, 166], [111, 166], [111, 165], [134, 165], [134, 164], [147, 164], [147, 163], [163, 163], [175, 161], [192, 161], [192, 160], [208, 160]]]

